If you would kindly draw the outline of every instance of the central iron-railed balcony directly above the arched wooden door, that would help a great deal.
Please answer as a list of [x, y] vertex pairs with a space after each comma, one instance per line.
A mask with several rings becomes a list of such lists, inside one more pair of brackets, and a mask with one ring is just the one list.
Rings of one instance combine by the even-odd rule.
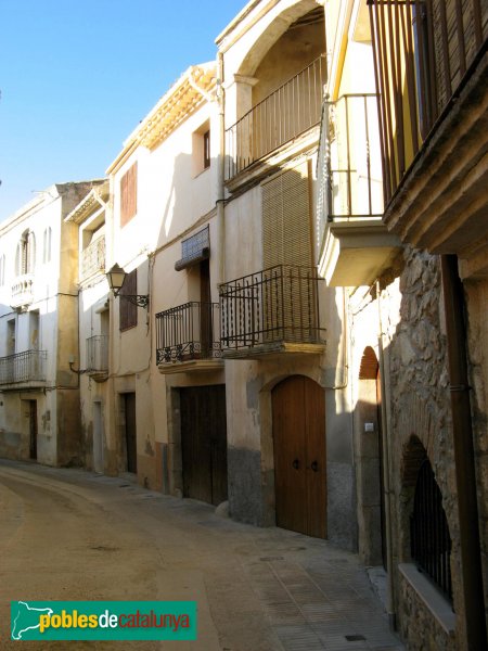
[[278, 265], [220, 285], [222, 356], [321, 354], [317, 269]]

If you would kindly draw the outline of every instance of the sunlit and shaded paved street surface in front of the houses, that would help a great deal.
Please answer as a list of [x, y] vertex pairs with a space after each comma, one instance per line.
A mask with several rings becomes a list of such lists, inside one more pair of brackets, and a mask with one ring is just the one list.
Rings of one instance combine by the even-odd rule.
[[196, 642], [28, 649], [400, 651], [357, 557], [130, 480], [0, 461], [0, 648], [11, 600], [196, 600]]

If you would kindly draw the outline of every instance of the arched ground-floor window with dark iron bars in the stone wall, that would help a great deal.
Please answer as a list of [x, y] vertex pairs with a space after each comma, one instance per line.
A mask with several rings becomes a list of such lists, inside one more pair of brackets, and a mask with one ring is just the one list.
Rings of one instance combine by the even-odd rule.
[[442, 495], [428, 459], [422, 463], [416, 477], [410, 547], [419, 569], [452, 601], [451, 537]]

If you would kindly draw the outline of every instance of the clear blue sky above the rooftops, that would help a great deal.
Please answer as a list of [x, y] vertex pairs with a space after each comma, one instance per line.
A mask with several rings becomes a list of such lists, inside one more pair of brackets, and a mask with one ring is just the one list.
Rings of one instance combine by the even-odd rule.
[[0, 221], [105, 176], [123, 142], [246, 0], [0, 0]]

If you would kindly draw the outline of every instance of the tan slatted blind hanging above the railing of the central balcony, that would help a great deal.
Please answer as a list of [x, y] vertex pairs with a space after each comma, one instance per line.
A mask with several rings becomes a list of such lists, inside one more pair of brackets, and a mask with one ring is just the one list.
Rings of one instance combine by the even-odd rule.
[[262, 183], [262, 261], [313, 265], [308, 162]]

